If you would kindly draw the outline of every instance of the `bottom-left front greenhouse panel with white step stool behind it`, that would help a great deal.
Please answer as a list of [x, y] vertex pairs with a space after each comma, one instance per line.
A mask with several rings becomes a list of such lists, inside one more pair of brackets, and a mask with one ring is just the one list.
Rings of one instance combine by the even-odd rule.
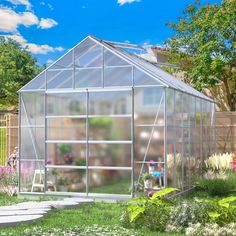
[[20, 192], [44, 192], [44, 161], [20, 161]]

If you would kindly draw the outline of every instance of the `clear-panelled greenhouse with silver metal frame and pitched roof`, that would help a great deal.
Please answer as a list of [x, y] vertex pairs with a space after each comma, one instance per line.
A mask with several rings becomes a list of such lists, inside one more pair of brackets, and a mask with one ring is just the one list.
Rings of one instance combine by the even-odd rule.
[[215, 103], [142, 50], [88, 36], [21, 88], [20, 195], [192, 188], [215, 149]]

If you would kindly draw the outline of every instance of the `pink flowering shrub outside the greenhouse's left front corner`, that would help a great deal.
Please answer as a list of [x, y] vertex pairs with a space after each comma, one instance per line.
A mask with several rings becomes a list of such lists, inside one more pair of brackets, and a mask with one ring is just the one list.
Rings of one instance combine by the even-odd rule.
[[19, 157], [18, 148], [7, 158], [7, 165], [0, 166], [0, 191], [9, 196], [17, 194], [17, 160]]

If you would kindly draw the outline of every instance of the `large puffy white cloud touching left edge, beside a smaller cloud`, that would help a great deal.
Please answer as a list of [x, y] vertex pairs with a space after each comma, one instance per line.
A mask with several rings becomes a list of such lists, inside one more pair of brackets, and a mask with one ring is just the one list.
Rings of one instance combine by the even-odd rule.
[[16, 32], [19, 25], [26, 27], [37, 25], [38, 17], [32, 12], [17, 13], [10, 8], [0, 8], [0, 31], [1, 32]]

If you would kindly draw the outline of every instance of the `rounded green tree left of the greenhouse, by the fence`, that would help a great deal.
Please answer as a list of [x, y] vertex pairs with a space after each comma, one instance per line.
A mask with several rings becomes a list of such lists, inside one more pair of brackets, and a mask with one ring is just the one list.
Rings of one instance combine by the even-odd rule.
[[17, 91], [41, 71], [36, 62], [17, 42], [0, 37], [0, 108], [17, 106]]

